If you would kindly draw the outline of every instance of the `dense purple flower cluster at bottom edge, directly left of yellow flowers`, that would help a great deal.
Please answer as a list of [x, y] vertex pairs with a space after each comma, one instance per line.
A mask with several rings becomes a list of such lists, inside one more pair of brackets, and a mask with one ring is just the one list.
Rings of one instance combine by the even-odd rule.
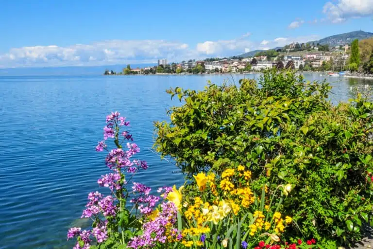
[[[176, 223], [177, 209], [172, 202], [163, 202], [162, 211], [153, 220], [143, 224], [143, 234], [135, 236], [128, 243], [128, 248], [153, 248], [157, 242], [165, 243], [168, 235], [181, 239], [180, 233], [174, 228]], [[171, 229], [168, 227], [170, 227]]]

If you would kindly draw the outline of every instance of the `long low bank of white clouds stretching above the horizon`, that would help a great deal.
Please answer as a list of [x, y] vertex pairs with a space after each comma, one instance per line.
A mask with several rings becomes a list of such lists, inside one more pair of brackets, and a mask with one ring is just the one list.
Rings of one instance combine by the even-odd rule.
[[252, 41], [238, 37], [231, 40], [204, 41], [193, 46], [167, 40], [106, 40], [66, 47], [57, 45], [12, 48], [0, 54], [0, 68], [97, 66], [113, 64], [155, 63], [159, 58], [169, 61], [223, 57], [267, 50], [292, 41], [317, 40], [318, 36], [277, 37]]

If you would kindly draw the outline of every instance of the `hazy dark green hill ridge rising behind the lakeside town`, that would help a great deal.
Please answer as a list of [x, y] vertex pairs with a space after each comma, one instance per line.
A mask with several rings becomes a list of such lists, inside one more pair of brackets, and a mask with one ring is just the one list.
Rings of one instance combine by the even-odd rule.
[[[370, 38], [370, 37], [373, 37], [373, 33], [359, 30], [359, 31], [353, 31], [353, 32], [349, 32], [349, 33], [334, 35], [334, 36], [328, 36], [328, 37], [322, 38], [322, 39], [317, 40], [317, 41], [309, 41], [309, 43], [314, 42], [315, 44], [320, 43], [322, 45], [329, 44], [329, 46], [339, 46], [339, 45], [344, 45], [346, 43], [351, 43], [355, 39], [362, 40], [362, 39], [366, 39], [366, 38]], [[276, 49], [279, 49], [279, 48], [281, 48], [281, 47], [276, 47], [276, 48], [273, 48], [273, 49], [276, 50]], [[254, 50], [254, 51], [250, 51], [248, 53], [243, 53], [243, 54], [240, 54], [240, 55], [237, 55], [237, 56], [252, 57], [252, 56], [255, 55], [255, 53], [258, 53], [258, 52], [261, 52], [261, 51], [263, 51], [263, 50]]]

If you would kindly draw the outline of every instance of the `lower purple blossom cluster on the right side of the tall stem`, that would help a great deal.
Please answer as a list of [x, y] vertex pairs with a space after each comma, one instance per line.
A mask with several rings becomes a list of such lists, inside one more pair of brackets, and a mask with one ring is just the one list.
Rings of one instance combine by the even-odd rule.
[[152, 189], [141, 183], [134, 182], [132, 190], [134, 194], [137, 194], [137, 196], [132, 198], [130, 202], [138, 207], [140, 213], [152, 213], [153, 207], [155, 207], [155, 204], [159, 201], [159, 197], [150, 195]]

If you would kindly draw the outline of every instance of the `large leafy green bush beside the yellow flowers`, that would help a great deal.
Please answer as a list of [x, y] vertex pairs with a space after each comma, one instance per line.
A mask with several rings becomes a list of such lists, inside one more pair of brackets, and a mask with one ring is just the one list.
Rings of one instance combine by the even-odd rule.
[[170, 123], [155, 124], [155, 147], [188, 178], [244, 165], [253, 191], [293, 184], [279, 207], [295, 221], [287, 236], [358, 240], [372, 214], [373, 103], [333, 107], [330, 89], [276, 71], [238, 86], [170, 89], [183, 105], [171, 107]]

